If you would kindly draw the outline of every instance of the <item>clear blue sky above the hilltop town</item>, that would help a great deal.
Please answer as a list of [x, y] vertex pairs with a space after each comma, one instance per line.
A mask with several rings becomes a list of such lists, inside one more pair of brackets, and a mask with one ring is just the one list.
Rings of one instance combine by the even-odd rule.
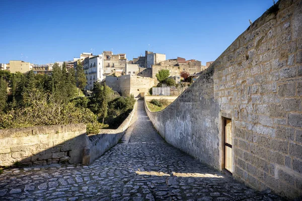
[[0, 0], [0, 63], [72, 60], [93, 48], [95, 54], [126, 53], [128, 60], [149, 49], [167, 59], [205, 64], [272, 5], [272, 0]]

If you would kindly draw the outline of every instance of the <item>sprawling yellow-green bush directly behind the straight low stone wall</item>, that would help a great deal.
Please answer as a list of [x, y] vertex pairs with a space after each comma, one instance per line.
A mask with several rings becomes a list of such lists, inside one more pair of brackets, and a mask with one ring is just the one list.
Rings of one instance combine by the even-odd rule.
[[97, 122], [96, 115], [89, 109], [55, 100], [47, 93], [31, 91], [26, 101], [27, 107], [0, 113], [0, 129]]

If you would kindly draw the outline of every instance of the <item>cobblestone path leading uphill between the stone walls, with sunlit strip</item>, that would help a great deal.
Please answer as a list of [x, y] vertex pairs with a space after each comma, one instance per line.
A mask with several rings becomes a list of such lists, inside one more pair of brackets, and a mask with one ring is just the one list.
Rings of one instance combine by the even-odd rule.
[[122, 143], [89, 166], [12, 168], [0, 200], [281, 200], [215, 171], [167, 144], [138, 102]]

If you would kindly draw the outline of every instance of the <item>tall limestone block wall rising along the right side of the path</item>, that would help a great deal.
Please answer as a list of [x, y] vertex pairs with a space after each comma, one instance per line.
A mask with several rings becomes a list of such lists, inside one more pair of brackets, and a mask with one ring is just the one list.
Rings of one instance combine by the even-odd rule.
[[147, 111], [150, 120], [167, 142], [222, 169], [222, 122], [230, 118], [233, 177], [302, 195], [301, 24], [302, 1], [279, 1], [174, 103]]

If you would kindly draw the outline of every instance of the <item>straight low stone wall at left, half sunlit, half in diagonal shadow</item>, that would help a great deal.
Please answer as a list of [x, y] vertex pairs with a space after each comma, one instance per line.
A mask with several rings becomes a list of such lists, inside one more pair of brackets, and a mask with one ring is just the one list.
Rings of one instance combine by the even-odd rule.
[[81, 163], [89, 145], [84, 124], [0, 130], [0, 166]]

